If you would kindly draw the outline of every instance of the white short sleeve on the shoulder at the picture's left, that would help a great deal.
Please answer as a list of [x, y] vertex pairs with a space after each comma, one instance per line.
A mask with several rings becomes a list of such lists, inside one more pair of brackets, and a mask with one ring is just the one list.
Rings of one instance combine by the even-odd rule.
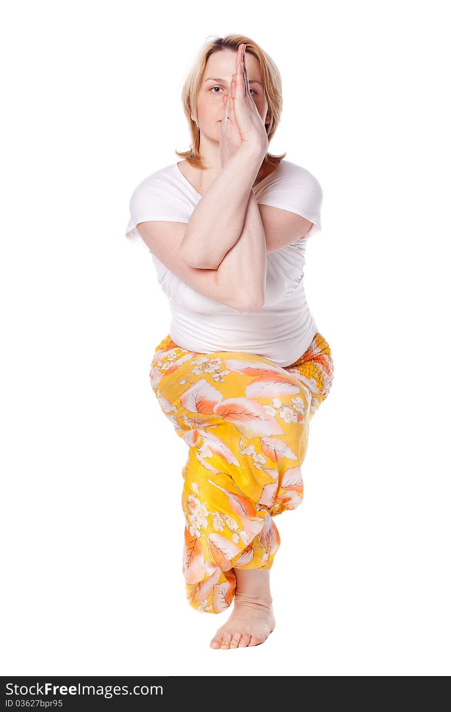
[[139, 223], [152, 220], [186, 223], [189, 220], [186, 206], [172, 184], [164, 177], [154, 174], [145, 178], [135, 188], [130, 197], [129, 211], [125, 236], [133, 244], [145, 247], [149, 252], [152, 250], [147, 247], [136, 228]]

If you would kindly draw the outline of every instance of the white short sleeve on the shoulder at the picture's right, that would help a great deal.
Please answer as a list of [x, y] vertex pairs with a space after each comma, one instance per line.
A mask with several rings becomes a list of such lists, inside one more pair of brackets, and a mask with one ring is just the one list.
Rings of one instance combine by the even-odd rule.
[[321, 230], [323, 190], [316, 177], [301, 166], [291, 163], [284, 172], [274, 172], [274, 179], [266, 184], [257, 201], [289, 210], [311, 221], [313, 226], [302, 239]]

